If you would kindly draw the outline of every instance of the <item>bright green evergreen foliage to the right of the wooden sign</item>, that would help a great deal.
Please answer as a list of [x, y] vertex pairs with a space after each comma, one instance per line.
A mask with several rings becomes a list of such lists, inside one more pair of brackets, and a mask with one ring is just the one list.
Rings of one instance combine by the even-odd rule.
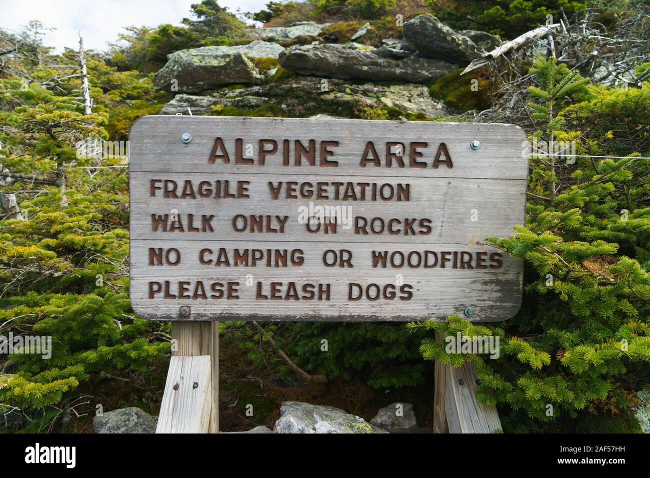
[[[454, 366], [474, 362], [478, 397], [499, 407], [506, 431], [539, 431], [580, 410], [625, 413], [650, 379], [650, 165], [637, 159], [649, 155], [650, 84], [584, 90], [584, 80], [554, 60], [538, 60], [534, 74], [541, 86], [531, 88], [531, 97], [545, 104], [530, 107], [549, 119], [547, 133], [575, 140], [577, 159], [556, 163], [549, 176], [539, 173], [547, 159], [532, 155], [526, 226], [507, 239], [487, 238], [525, 260], [521, 311], [497, 325], [460, 317], [410, 325], [500, 337], [498, 360], [447, 354], [432, 338], [422, 341], [421, 352]], [[580, 103], [557, 101], [581, 91]], [[549, 179], [558, 186], [554, 197]]]

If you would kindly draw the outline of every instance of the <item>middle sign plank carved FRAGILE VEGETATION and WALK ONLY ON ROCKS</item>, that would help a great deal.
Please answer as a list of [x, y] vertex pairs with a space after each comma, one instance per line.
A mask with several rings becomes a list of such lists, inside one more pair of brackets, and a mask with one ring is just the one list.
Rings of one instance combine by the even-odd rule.
[[[193, 181], [194, 185], [200, 181], [214, 183], [216, 180], [227, 180], [236, 183], [237, 180], [251, 181], [250, 199], [221, 199], [197, 198], [190, 199], [164, 199], [149, 196], [149, 179], [174, 179]], [[317, 181], [355, 181], [354, 176], [301, 176], [300, 181], [317, 183]], [[475, 243], [487, 235], [512, 234], [515, 224], [521, 224], [523, 204], [526, 197], [525, 181], [504, 181], [497, 179], [450, 179], [444, 178], [401, 178], [388, 179], [381, 177], [367, 177], [363, 181], [380, 184], [408, 185], [410, 199], [407, 201], [337, 201], [337, 200], [272, 200], [270, 199], [268, 182], [277, 187], [278, 181], [287, 181], [287, 178], [276, 174], [159, 174], [132, 173], [131, 174], [131, 239], [187, 239], [211, 240], [233, 239], [239, 241], [255, 241], [263, 239], [282, 239], [291, 241], [322, 241], [338, 240], [345, 242], [383, 241], [395, 243]], [[196, 186], [195, 186], [196, 187]], [[404, 186], [405, 187], [405, 186]], [[329, 188], [331, 191], [331, 188]], [[304, 223], [300, 222], [301, 211], [309, 211], [309, 203], [315, 206], [328, 206], [342, 219], [351, 219], [350, 228], [337, 224], [336, 237], [325, 235], [323, 232], [311, 233]], [[305, 209], [301, 209], [305, 208]], [[337, 209], [338, 208], [338, 209]], [[340, 212], [339, 212], [340, 211]], [[171, 226], [172, 214], [183, 224], [184, 232], [162, 232], [161, 227], [153, 231], [151, 215], [168, 215], [168, 226]], [[188, 232], [188, 214], [192, 214], [194, 226], [200, 232]], [[211, 220], [214, 232], [201, 231], [201, 215], [214, 215]], [[279, 230], [277, 215], [289, 218], [284, 225], [284, 233], [259, 233], [250, 232], [250, 224], [245, 231], [233, 230], [233, 217], [235, 215], [263, 215], [272, 218], [272, 227]], [[328, 215], [329, 217], [329, 215]], [[402, 220], [402, 233], [392, 235], [387, 228], [382, 233], [371, 233], [370, 224], [365, 230], [367, 235], [356, 233], [354, 218], [374, 217], [382, 218], [385, 222], [390, 219]], [[429, 234], [404, 235], [404, 219], [428, 219], [432, 231]], [[250, 220], [250, 219], [249, 219]], [[416, 221], [417, 222], [417, 221]], [[380, 223], [378, 223], [380, 224]], [[244, 226], [238, 220], [239, 228]], [[315, 229], [315, 227], [313, 228]], [[394, 228], [397, 230], [397, 228]], [[376, 231], [380, 231], [378, 225]]]

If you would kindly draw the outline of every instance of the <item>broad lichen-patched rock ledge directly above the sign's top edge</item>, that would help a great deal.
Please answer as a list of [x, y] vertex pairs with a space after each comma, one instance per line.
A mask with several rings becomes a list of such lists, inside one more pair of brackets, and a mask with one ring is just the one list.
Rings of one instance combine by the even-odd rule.
[[392, 108], [403, 112], [400, 117], [404, 119], [408, 114], [435, 118], [447, 113], [445, 104], [431, 98], [424, 85], [358, 85], [341, 79], [328, 79], [326, 90], [323, 90], [322, 81], [317, 77], [298, 76], [281, 83], [235, 90], [222, 88], [211, 96], [179, 94], [163, 107], [161, 114], [189, 114], [188, 107], [192, 114], [205, 114], [216, 105], [254, 110], [268, 103], [277, 105], [285, 116], [294, 117], [330, 114], [350, 118], [359, 105]]

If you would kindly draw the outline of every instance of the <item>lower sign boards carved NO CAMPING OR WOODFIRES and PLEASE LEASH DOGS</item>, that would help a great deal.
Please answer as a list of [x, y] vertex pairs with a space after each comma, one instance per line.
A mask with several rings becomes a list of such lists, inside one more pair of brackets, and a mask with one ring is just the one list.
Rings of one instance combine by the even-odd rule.
[[[177, 248], [183, 262], [177, 266], [148, 265], [148, 248], [164, 247]], [[411, 321], [424, 319], [444, 319], [448, 315], [462, 314], [467, 306], [473, 306], [476, 315], [473, 321], [499, 321], [505, 320], [519, 310], [521, 305], [521, 261], [502, 256], [500, 269], [452, 269], [450, 264], [444, 269], [411, 269], [402, 267], [372, 267], [370, 254], [372, 250], [396, 251], [408, 254], [411, 251], [433, 250], [438, 254], [453, 248], [471, 252], [493, 252], [494, 249], [484, 246], [467, 245], [434, 245], [415, 247], [413, 245], [394, 244], [358, 244], [358, 243], [318, 243], [318, 248], [313, 243], [296, 242], [290, 248], [304, 250], [304, 265], [301, 267], [216, 267], [214, 265], [200, 265], [198, 263], [199, 251], [209, 247], [201, 241], [132, 241], [131, 257], [131, 305], [133, 310], [143, 318], [161, 320], [182, 320], [179, 309], [183, 305], [190, 306], [191, 317], [194, 320], [218, 319], [253, 320], [313, 320], [314, 316], [328, 317], [330, 320], [352, 321], [355, 319], [376, 321]], [[339, 250], [342, 246], [352, 253], [354, 267], [323, 267], [322, 252], [326, 250]], [[218, 247], [227, 250], [242, 248], [237, 241], [221, 241]], [[282, 248], [286, 243], [277, 242], [249, 242], [248, 248]], [[216, 252], [216, 249], [214, 249]], [[213, 258], [216, 254], [213, 254]], [[227, 280], [239, 282], [237, 300], [226, 299], [161, 299], [163, 293], [155, 295], [154, 299], [148, 297], [150, 281], [167, 280], [172, 284], [179, 281], [203, 281], [206, 284], [213, 282], [225, 283]], [[246, 285], [246, 281], [251, 285]], [[348, 283], [353, 282], [367, 287], [368, 284], [395, 285], [398, 280], [402, 284], [413, 286], [411, 300], [368, 300], [361, 299], [350, 302], [348, 297]], [[330, 300], [257, 300], [257, 282], [270, 284], [270, 282], [294, 282], [303, 284], [330, 284]], [[175, 287], [175, 285], [174, 285]], [[397, 287], [398, 289], [398, 287]], [[172, 291], [173, 292], [173, 291]], [[263, 293], [268, 295], [268, 287]], [[270, 297], [270, 296], [269, 296]]]

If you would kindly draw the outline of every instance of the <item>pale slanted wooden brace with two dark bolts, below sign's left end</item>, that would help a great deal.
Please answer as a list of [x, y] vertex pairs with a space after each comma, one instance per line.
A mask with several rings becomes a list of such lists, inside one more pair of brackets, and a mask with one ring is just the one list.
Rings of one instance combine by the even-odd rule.
[[207, 355], [172, 356], [156, 433], [209, 431], [212, 407], [210, 362]]

